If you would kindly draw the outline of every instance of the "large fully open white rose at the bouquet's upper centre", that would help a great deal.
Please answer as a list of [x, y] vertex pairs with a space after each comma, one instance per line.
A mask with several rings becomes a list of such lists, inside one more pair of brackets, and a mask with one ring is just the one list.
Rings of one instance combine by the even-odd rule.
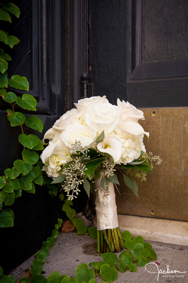
[[104, 103], [93, 106], [90, 112], [85, 114], [85, 121], [93, 131], [101, 134], [104, 130], [105, 134], [109, 134], [117, 127], [120, 117], [118, 106]]

